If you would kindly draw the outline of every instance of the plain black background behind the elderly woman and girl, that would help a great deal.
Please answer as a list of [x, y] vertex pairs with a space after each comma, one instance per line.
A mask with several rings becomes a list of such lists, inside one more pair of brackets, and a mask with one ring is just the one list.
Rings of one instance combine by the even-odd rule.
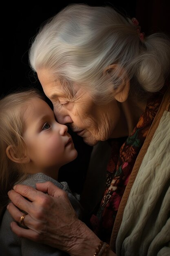
[[[28, 49], [31, 38], [37, 33], [42, 22], [55, 15], [70, 3], [89, 5], [111, 5], [131, 18], [135, 17], [141, 32], [148, 35], [163, 31], [170, 34], [170, 1], [168, 0], [111, 0], [111, 1], [45, 1], [44, 3], [25, 2], [4, 3], [1, 7], [1, 96], [17, 88], [41, 85], [33, 76], [28, 63]], [[70, 131], [71, 132], [71, 131]], [[81, 193], [88, 160], [92, 147], [87, 146], [81, 137], [71, 132], [78, 157], [60, 169], [60, 180], [65, 180], [78, 193]]]

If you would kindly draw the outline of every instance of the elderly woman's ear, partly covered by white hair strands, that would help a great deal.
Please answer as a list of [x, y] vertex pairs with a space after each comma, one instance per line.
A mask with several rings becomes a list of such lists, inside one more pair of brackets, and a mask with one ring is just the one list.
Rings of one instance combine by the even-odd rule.
[[120, 81], [118, 86], [114, 84], [114, 81], [112, 83], [114, 98], [119, 102], [126, 101], [126, 99], [128, 98], [129, 90], [130, 90], [130, 81], [128, 79], [128, 75], [126, 74], [124, 68], [118, 64], [109, 65], [104, 70], [104, 75], [110, 76], [111, 80], [112, 80], [112, 77], [114, 76], [114, 79], [116, 79], [117, 81], [118, 80]]

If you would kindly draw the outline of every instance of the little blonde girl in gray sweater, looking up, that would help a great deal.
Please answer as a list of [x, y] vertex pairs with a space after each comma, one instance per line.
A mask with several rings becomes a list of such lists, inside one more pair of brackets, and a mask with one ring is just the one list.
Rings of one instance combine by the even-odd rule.
[[[67, 126], [57, 123], [53, 110], [38, 90], [15, 92], [0, 100], [1, 256], [67, 255], [48, 245], [18, 238], [10, 229], [13, 219], [6, 210], [7, 191], [14, 184], [35, 187], [36, 183], [51, 181], [68, 193], [80, 218], [79, 195], [73, 195], [66, 182], [57, 182], [59, 168], [77, 157], [67, 131]], [[20, 218], [22, 225], [24, 217], [25, 214]]]

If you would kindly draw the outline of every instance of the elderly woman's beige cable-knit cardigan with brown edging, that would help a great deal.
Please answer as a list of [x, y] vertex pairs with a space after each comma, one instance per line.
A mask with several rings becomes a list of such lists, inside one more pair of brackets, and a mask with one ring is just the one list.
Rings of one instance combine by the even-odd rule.
[[[93, 149], [82, 193], [86, 214], [101, 201], [109, 154], [106, 142]], [[170, 256], [170, 88], [136, 159], [110, 247], [117, 256]]]

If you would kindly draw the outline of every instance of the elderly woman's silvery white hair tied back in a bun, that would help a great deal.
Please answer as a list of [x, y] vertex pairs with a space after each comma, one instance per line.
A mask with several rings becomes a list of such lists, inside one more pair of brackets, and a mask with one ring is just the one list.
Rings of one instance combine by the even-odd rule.
[[54, 76], [77, 83], [98, 102], [112, 100], [106, 67], [119, 64], [111, 75], [117, 88], [124, 75], [135, 77], [147, 92], [159, 91], [170, 68], [170, 41], [164, 34], [145, 36], [112, 7], [70, 4], [49, 19], [35, 36], [29, 51], [32, 69], [46, 68]]

